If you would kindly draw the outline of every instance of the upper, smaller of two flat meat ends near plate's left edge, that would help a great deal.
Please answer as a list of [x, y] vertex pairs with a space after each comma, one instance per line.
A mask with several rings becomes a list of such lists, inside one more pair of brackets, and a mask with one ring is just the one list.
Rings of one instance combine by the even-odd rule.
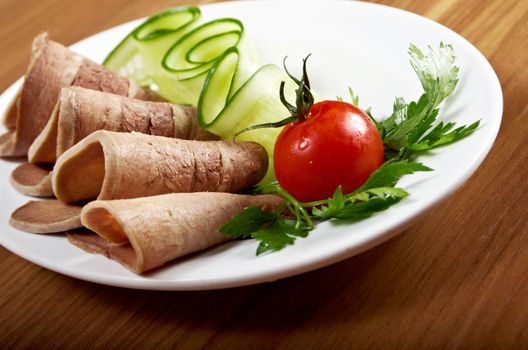
[[22, 163], [11, 173], [11, 184], [20, 193], [35, 197], [53, 197], [51, 170], [31, 163]]

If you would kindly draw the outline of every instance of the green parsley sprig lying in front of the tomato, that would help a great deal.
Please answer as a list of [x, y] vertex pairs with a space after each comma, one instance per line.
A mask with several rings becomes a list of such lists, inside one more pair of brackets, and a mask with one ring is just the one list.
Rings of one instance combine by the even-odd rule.
[[254, 193], [277, 194], [283, 204], [273, 213], [248, 207], [224, 225], [220, 232], [233, 238], [254, 238], [260, 242], [257, 255], [280, 250], [298, 237], [306, 237], [315, 222], [330, 219], [362, 220], [387, 209], [407, 197], [408, 193], [394, 185], [403, 175], [432, 169], [420, 163], [389, 161], [369, 177], [367, 182], [350, 194], [338, 187], [331, 198], [302, 203], [293, 198], [275, 181], [255, 188]]

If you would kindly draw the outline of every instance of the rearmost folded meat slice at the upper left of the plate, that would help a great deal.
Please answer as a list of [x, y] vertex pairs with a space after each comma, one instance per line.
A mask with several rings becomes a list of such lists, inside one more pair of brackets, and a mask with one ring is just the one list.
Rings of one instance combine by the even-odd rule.
[[33, 41], [29, 67], [17, 98], [4, 115], [8, 132], [0, 136], [0, 156], [27, 154], [44, 129], [65, 86], [82, 86], [142, 100], [160, 100], [127, 78], [48, 40], [42, 33]]

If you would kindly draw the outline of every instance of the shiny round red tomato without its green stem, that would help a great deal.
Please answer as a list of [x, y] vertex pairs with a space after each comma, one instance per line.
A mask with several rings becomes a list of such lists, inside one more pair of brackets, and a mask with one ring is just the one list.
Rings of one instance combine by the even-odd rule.
[[383, 141], [368, 115], [354, 105], [323, 101], [304, 121], [284, 127], [275, 142], [275, 176], [301, 202], [361, 186], [383, 163]]

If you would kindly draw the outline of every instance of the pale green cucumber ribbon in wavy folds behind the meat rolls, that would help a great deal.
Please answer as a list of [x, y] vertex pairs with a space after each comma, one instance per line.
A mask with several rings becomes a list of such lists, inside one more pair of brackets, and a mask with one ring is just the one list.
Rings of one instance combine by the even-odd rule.
[[[203, 21], [198, 7], [178, 7], [148, 18], [108, 55], [104, 65], [173, 103], [197, 106], [200, 125], [224, 139], [251, 125], [288, 115], [279, 98], [295, 84], [279, 67], [263, 65], [234, 18]], [[270, 159], [262, 181], [274, 179], [273, 147], [279, 128], [242, 133], [237, 140], [261, 144]]]

